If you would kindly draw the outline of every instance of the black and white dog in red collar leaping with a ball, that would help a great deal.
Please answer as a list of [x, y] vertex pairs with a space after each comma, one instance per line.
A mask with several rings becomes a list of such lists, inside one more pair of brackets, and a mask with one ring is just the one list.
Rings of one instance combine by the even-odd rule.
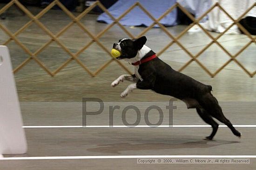
[[115, 87], [124, 80], [134, 82], [121, 93], [121, 97], [126, 97], [135, 88], [170, 95], [184, 101], [188, 108], [196, 108], [200, 117], [212, 126], [213, 131], [205, 140], [212, 140], [219, 126], [212, 117], [227, 125], [234, 135], [241, 137], [241, 133], [223, 115], [222, 108], [211, 94], [212, 87], [172, 69], [155, 56], [155, 52], [145, 45], [146, 41], [146, 37], [133, 40], [125, 38], [113, 45], [115, 50], [121, 52], [117, 59], [124, 59], [135, 67], [134, 75], [121, 75], [111, 84]]

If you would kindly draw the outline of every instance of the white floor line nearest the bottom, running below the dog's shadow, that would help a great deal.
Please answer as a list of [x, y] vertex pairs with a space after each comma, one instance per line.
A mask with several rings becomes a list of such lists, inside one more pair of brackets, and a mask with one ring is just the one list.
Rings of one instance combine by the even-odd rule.
[[61, 156], [61, 157], [2, 157], [0, 160], [38, 159], [120, 159], [120, 158], [256, 158], [256, 155], [119, 155], [119, 156]]

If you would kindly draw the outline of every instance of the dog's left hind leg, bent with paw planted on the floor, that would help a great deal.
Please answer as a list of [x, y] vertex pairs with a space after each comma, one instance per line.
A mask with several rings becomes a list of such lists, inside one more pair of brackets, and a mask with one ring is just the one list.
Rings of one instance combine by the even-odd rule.
[[196, 108], [197, 113], [199, 116], [202, 118], [205, 123], [208, 123], [210, 126], [212, 126], [212, 133], [210, 136], [205, 137], [204, 140], [212, 140], [213, 137], [215, 136], [219, 125], [217, 124], [216, 121], [214, 121], [209, 113], [206, 112], [203, 108]]

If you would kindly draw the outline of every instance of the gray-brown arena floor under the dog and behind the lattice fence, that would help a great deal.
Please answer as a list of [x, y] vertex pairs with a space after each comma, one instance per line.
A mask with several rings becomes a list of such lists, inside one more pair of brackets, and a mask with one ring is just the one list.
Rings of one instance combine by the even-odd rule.
[[[30, 9], [34, 14], [37, 8]], [[77, 13], [76, 13], [77, 15]], [[95, 22], [97, 15], [88, 15], [82, 22], [94, 34], [107, 25]], [[17, 31], [29, 19], [20, 15], [15, 8], [8, 11], [8, 18], [1, 20], [10, 31]], [[60, 11], [51, 10], [40, 21], [51, 31], [57, 33], [71, 19]], [[144, 28], [126, 27], [133, 34], [139, 34]], [[185, 26], [178, 25], [168, 28], [178, 35]], [[217, 33], [211, 32], [213, 36]], [[161, 50], [170, 42], [170, 38], [160, 29], [152, 29], [146, 34], [147, 45], [155, 52]], [[114, 26], [100, 38], [102, 44], [111, 49], [112, 44], [127, 35]], [[7, 35], [0, 30], [0, 44], [5, 42]], [[50, 38], [43, 34], [38, 26], [31, 25], [18, 36], [32, 52], [40, 48]], [[73, 26], [60, 37], [67, 47], [76, 52], [90, 39], [78, 26]], [[245, 35], [225, 35], [219, 39], [232, 54], [241, 49], [249, 38]], [[196, 54], [210, 39], [205, 33], [186, 33], [180, 42]], [[247, 50], [237, 57], [251, 72], [256, 69], [256, 44], [251, 44]], [[18, 45], [11, 42], [10, 49], [13, 68], [17, 67], [28, 55]], [[52, 71], [69, 58], [57, 44], [52, 43], [38, 56]], [[110, 58], [95, 43], [84, 51], [81, 61], [89, 69], [96, 70]], [[171, 46], [160, 58], [179, 69], [190, 57], [178, 46]], [[211, 71], [218, 69], [229, 57], [216, 45], [206, 50], [199, 60]], [[133, 68], [124, 63], [131, 71]], [[112, 103], [133, 101], [144, 106], [143, 101], [154, 101], [165, 106], [170, 97], [155, 94], [151, 91], [135, 90], [126, 99], [120, 94], [129, 84], [123, 82], [116, 88], [110, 83], [126, 72], [116, 63], [92, 78], [77, 63], [71, 62], [56, 76], [47, 75], [44, 70], [32, 60], [15, 74], [20, 106], [25, 126], [75, 126], [82, 125], [82, 97], [96, 97]], [[234, 125], [256, 125], [256, 78], [249, 78], [243, 70], [231, 62], [215, 78], [210, 78], [196, 63], [192, 63], [182, 73], [187, 74], [213, 86], [213, 94], [220, 101], [226, 117]], [[194, 109], [187, 110], [180, 101], [175, 102], [177, 109], [173, 113], [173, 125], [205, 125]], [[144, 111], [142, 108], [142, 111]], [[162, 107], [165, 108], [165, 107]], [[154, 112], [155, 113], [155, 112]], [[149, 120], [157, 122], [158, 113], [150, 114]], [[167, 113], [164, 112], [164, 116]], [[108, 109], [100, 115], [88, 118], [89, 125], [107, 125]], [[141, 116], [141, 118], [143, 118]], [[163, 124], [168, 125], [167, 117]], [[134, 114], [129, 113], [127, 120], [134, 122]], [[141, 119], [143, 120], [143, 119]], [[115, 125], [123, 125], [121, 113], [114, 114]], [[141, 121], [140, 125], [145, 125]], [[203, 141], [209, 135], [209, 127], [173, 127], [173, 128], [26, 128], [28, 151], [24, 155], [4, 155], [5, 157], [44, 157], [44, 156], [104, 156], [104, 155], [256, 155], [255, 127], [237, 127], [243, 138], [236, 138], [228, 128], [220, 127], [215, 141]], [[250, 164], [208, 164], [207, 169], [255, 169], [256, 159]], [[81, 159], [81, 160], [12, 160], [0, 161], [0, 170], [64, 170], [64, 169], [205, 169], [203, 164], [136, 164], [136, 159]]]

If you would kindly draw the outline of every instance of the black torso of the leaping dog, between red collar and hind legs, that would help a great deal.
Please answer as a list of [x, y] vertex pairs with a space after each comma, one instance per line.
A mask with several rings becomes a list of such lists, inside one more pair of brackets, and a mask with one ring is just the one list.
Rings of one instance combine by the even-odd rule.
[[156, 93], [166, 94], [180, 100], [198, 97], [211, 91], [211, 86], [204, 85], [172, 69], [161, 59], [155, 58], [142, 63], [138, 70], [143, 81], [137, 82], [137, 88], [152, 89]]

